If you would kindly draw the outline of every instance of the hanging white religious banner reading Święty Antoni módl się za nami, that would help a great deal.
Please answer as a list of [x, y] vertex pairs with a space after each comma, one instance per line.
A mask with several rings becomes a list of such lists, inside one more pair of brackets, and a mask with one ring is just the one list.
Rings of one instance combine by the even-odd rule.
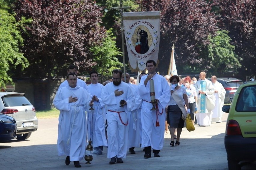
[[157, 63], [160, 12], [123, 13], [123, 25], [131, 70], [145, 70], [148, 60]]

